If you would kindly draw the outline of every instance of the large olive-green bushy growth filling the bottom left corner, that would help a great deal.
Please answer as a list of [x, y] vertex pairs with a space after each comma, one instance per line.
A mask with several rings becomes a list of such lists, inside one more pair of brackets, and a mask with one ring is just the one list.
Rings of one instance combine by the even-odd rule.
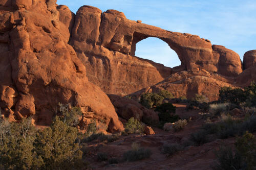
[[0, 164], [5, 169], [77, 169], [83, 166], [78, 130], [58, 116], [44, 130], [37, 130], [31, 118], [9, 125], [1, 120], [0, 127], [5, 127], [1, 131], [5, 137], [0, 143]]

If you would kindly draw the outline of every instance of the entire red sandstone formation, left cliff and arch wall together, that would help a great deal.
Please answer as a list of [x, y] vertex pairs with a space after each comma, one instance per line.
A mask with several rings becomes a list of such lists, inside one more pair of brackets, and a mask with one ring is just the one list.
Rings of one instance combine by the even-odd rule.
[[[181, 65], [135, 57], [136, 43], [147, 37], [165, 41]], [[35, 124], [47, 125], [58, 102], [71, 103], [81, 107], [85, 125], [96, 118], [109, 131], [122, 130], [104, 92], [125, 95], [151, 86], [144, 91], [164, 88], [177, 97], [199, 93], [216, 100], [220, 87], [256, 80], [254, 52], [245, 54], [243, 71], [238, 54], [224, 46], [126, 19], [119, 11], [83, 6], [75, 15], [56, 0], [2, 0], [0, 107], [12, 120], [33, 115]]]

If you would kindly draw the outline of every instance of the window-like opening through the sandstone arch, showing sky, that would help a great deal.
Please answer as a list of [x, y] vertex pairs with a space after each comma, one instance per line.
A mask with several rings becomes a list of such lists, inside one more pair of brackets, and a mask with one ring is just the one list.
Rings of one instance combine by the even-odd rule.
[[181, 65], [177, 53], [163, 40], [145, 35], [136, 36], [132, 45], [131, 55], [152, 60], [166, 67]]

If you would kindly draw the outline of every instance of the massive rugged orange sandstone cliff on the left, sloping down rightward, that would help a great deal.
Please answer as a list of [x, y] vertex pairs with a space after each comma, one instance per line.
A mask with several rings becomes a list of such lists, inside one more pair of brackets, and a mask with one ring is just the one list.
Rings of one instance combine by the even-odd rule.
[[108, 96], [88, 81], [68, 44], [74, 14], [55, 3], [0, 3], [2, 113], [11, 120], [33, 115], [36, 125], [49, 125], [58, 102], [71, 103], [82, 109], [85, 124], [95, 118], [109, 131], [122, 130]]

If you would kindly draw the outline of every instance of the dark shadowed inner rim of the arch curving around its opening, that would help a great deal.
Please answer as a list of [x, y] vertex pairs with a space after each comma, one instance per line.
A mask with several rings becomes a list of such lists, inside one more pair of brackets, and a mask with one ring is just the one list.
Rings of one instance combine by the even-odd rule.
[[[175, 67], [183, 67], [184, 69], [185, 69], [185, 61], [183, 60], [183, 58], [182, 57], [180, 57], [181, 56], [181, 53], [179, 53], [180, 54], [180, 56], [178, 55], [178, 53], [177, 52], [179, 52], [179, 50], [178, 50], [178, 48], [176, 48], [176, 51], [171, 47], [171, 45], [169, 44], [169, 43], [167, 43], [165, 40], [163, 40], [163, 39], [161, 39], [161, 38], [159, 38], [159, 37], [155, 37], [155, 36], [148, 36], [148, 35], [145, 35], [145, 34], [141, 34], [141, 33], [137, 33], [137, 32], [135, 32], [134, 33], [134, 35], [133, 35], [133, 41], [132, 41], [132, 45], [131, 45], [131, 52], [130, 52], [130, 55], [131, 56], [136, 56], [136, 46], [137, 46], [137, 43], [138, 42], [141, 42], [142, 40], [144, 40], [144, 39], [147, 39], [147, 38], [158, 38], [159, 40], [162, 40], [163, 42], [165, 42], [169, 47], [170, 47], [170, 50], [173, 50], [176, 54], [177, 54], [177, 56], [178, 56], [178, 58], [179, 58], [179, 60], [180, 60], [180, 62], [181, 62], [181, 64], [180, 65], [177, 65], [177, 66], [175, 66]], [[182, 62], [183, 61], [183, 62]]]

